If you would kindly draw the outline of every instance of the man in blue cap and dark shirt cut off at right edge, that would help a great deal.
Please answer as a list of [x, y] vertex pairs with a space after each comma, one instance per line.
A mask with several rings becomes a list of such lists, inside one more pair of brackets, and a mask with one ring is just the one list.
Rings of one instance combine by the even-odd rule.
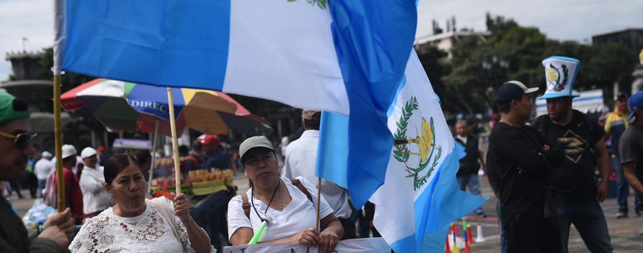
[[631, 111], [628, 120], [635, 120], [620, 137], [620, 162], [638, 203], [643, 203], [643, 91], [631, 96], [628, 103]]

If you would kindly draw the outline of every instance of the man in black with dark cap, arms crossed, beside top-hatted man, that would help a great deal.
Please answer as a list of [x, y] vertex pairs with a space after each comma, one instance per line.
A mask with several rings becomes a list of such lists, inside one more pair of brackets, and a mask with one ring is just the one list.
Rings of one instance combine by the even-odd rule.
[[523, 83], [498, 89], [500, 123], [489, 137], [487, 175], [500, 198], [500, 222], [507, 252], [561, 252], [550, 175], [564, 159], [561, 148], [547, 143], [529, 120], [532, 103]]

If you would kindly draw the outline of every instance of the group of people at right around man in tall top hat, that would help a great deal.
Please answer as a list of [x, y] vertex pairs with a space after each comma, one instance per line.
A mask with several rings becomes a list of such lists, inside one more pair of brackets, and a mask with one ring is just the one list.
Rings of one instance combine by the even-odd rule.
[[[531, 94], [538, 88], [510, 81], [498, 89], [501, 118], [489, 138], [486, 173], [500, 199], [498, 218], [506, 252], [567, 252], [572, 224], [590, 252], [612, 252], [599, 204], [608, 195], [612, 164], [622, 165], [624, 175], [619, 178], [629, 182], [637, 196], [643, 193], [643, 152], [636, 132], [643, 126], [643, 92], [629, 100], [626, 94], [617, 95], [617, 109], [601, 126], [572, 109], [573, 98], [579, 96], [572, 91], [574, 79], [559, 82], [557, 69], [570, 69], [575, 76], [579, 64], [567, 57], [543, 60], [547, 91], [540, 99], [547, 100], [548, 113], [532, 121]], [[611, 151], [606, 133], [611, 134]], [[625, 189], [619, 190], [617, 218], [627, 215], [627, 202], [622, 200], [629, 192], [626, 182], [619, 182]]]

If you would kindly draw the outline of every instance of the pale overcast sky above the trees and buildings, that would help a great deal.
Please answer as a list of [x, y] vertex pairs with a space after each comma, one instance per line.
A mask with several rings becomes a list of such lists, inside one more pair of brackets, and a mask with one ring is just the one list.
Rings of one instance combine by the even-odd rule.
[[[458, 29], [484, 31], [486, 12], [559, 40], [591, 41], [597, 33], [643, 28], [643, 0], [421, 0], [418, 12], [417, 37], [431, 33], [432, 19], [445, 29], [451, 16]], [[0, 0], [0, 80], [11, 73], [5, 54], [23, 49], [23, 37], [28, 51], [52, 45], [53, 0]]]

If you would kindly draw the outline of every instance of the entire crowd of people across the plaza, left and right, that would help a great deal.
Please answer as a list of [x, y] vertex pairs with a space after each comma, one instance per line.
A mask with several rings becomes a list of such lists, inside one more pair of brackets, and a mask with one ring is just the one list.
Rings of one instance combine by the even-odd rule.
[[[455, 124], [453, 139], [463, 152], [458, 185], [481, 195], [478, 172], [482, 169], [487, 175], [498, 197], [503, 252], [567, 252], [572, 224], [588, 250], [612, 252], [599, 203], [608, 195], [614, 171], [617, 218], [629, 215], [629, 187], [636, 195], [635, 214], [641, 214], [643, 92], [617, 94], [614, 111], [597, 120], [572, 109], [577, 96], [572, 91], [574, 78], [560, 82], [556, 72], [568, 69], [575, 76], [579, 62], [551, 57], [543, 65], [546, 115], [532, 116], [532, 94], [538, 88], [509, 81], [497, 91], [500, 120], [490, 129], [486, 155], [466, 121]], [[59, 182], [52, 153], [44, 151], [37, 161], [32, 159], [35, 134], [29, 117], [26, 104], [0, 92], [0, 180], [12, 182], [10, 187], [22, 198], [14, 184], [28, 177], [32, 198], [57, 207], [57, 196], [64, 194], [68, 209], [28, 236], [10, 203], [1, 198], [1, 252], [215, 252], [223, 245], [250, 241], [301, 243], [332, 252], [340, 240], [369, 237], [369, 229], [379, 236], [372, 225], [372, 203], [356, 210], [347, 189], [314, 175], [320, 111], [303, 110], [303, 131], [294, 141], [282, 139], [275, 145], [267, 137], [254, 136], [229, 153], [217, 135], [205, 134], [190, 147], [181, 146], [182, 173], [237, 169], [248, 178], [247, 191], [236, 195], [235, 189], [228, 189], [228, 204], [217, 205], [205, 216], [193, 216], [190, 202], [208, 196], [188, 200], [183, 193], [172, 193], [171, 198], [149, 198], [147, 180], [155, 155], [149, 150], [108, 157], [102, 147], [78, 153], [65, 144], [60, 161], [64, 182]], [[57, 191], [61, 183], [64, 193]], [[482, 207], [474, 214], [487, 216]], [[267, 232], [261, 233], [266, 224]]]

